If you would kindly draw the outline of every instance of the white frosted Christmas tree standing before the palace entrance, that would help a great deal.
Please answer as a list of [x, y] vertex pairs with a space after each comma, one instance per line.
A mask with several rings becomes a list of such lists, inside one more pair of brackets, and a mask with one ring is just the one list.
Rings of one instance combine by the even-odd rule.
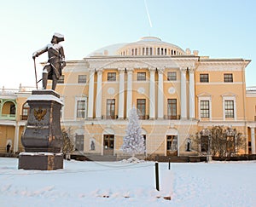
[[124, 144], [121, 150], [127, 154], [131, 154], [132, 157], [145, 152], [144, 138], [135, 106], [133, 106], [130, 111], [129, 124], [126, 129]]

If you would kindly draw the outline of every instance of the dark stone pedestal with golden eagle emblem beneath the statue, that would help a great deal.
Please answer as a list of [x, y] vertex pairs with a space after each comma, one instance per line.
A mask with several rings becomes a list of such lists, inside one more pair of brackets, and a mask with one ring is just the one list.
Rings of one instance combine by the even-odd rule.
[[19, 169], [57, 170], [63, 168], [60, 114], [61, 100], [54, 90], [33, 90], [27, 99], [29, 116], [21, 143]]

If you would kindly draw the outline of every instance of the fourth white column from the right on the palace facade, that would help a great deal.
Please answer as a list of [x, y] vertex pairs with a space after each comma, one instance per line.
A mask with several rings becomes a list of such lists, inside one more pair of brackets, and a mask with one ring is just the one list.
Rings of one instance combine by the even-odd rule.
[[155, 68], [148, 68], [150, 72], [150, 83], [149, 83], [149, 118], [154, 119], [155, 118], [155, 81], [154, 81], [154, 75], [155, 75]]

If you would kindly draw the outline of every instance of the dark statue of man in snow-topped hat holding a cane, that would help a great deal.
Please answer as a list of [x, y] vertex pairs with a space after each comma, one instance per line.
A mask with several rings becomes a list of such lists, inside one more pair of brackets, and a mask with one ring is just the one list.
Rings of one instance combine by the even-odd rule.
[[64, 50], [61, 44], [64, 36], [55, 33], [51, 39], [51, 43], [43, 49], [34, 52], [32, 58], [35, 59], [39, 55], [48, 51], [48, 62], [43, 69], [43, 89], [46, 89], [47, 80], [52, 80], [52, 89], [55, 90], [58, 79], [61, 77], [61, 70], [66, 66]]

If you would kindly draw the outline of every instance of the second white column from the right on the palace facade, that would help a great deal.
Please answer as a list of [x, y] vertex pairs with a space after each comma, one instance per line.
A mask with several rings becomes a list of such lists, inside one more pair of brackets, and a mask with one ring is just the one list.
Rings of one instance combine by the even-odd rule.
[[180, 104], [181, 104], [181, 118], [187, 118], [187, 90], [186, 90], [186, 72], [187, 68], [180, 69], [181, 76], [181, 95], [180, 95]]

